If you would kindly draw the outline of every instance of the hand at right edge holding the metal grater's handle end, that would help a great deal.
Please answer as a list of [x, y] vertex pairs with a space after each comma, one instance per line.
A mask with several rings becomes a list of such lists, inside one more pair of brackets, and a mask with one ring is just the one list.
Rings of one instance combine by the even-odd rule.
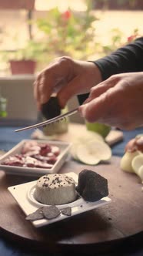
[[142, 126], [143, 72], [114, 75], [92, 87], [79, 111], [91, 123], [98, 121], [123, 130]]

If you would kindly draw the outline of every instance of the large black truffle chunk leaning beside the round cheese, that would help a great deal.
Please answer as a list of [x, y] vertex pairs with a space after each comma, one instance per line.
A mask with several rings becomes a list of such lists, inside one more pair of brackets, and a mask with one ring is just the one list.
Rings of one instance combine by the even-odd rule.
[[76, 190], [85, 200], [100, 200], [108, 196], [108, 180], [92, 170], [85, 169], [79, 173]]

